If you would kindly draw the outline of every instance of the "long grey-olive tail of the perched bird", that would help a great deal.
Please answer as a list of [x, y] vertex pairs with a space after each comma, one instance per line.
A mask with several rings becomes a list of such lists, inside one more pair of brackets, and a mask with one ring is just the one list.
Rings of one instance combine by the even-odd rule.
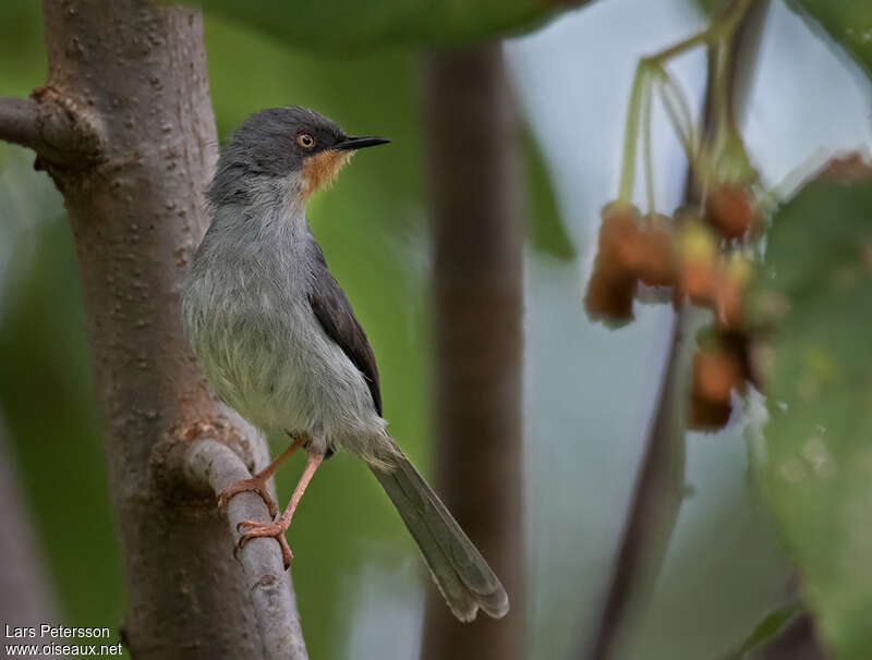
[[371, 465], [415, 539], [433, 579], [460, 621], [472, 621], [481, 608], [499, 619], [509, 597], [499, 578], [399, 448], [392, 469]]

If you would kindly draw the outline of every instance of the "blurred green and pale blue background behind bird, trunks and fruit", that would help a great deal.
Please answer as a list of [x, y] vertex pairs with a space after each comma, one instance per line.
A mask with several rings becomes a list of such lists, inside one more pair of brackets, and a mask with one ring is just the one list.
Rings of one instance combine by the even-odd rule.
[[[526, 652], [568, 658], [596, 622], [632, 493], [669, 337], [668, 306], [621, 330], [581, 306], [600, 208], [615, 196], [638, 59], [694, 29], [689, 0], [609, 0], [509, 39], [525, 132]], [[872, 144], [868, 83], [780, 2], [768, 12], [744, 135], [767, 185], [797, 166]], [[427, 473], [433, 421], [428, 201], [422, 63], [388, 47], [314, 56], [207, 14], [220, 136], [249, 113], [299, 103], [349, 132], [384, 134], [310, 205], [313, 231], [374, 346], [391, 432]], [[45, 81], [39, 3], [0, 3], [0, 94]], [[678, 77], [702, 96], [701, 52]], [[677, 205], [683, 157], [655, 115], [658, 199]], [[61, 196], [33, 155], [0, 143], [0, 444], [4, 488], [29, 516], [38, 570], [71, 625], [117, 626], [124, 594], [93, 394], [84, 314]], [[651, 607], [622, 657], [717, 658], [780, 601], [785, 561], [747, 484], [743, 419], [691, 433], [686, 500]], [[276, 439], [272, 451], [281, 447]], [[287, 498], [302, 457], [277, 476]], [[7, 521], [0, 521], [7, 527]], [[414, 657], [424, 583], [404, 528], [358, 461], [318, 474], [289, 534], [313, 658]], [[429, 586], [427, 586], [429, 588]], [[4, 598], [0, 592], [0, 601]], [[15, 603], [0, 602], [0, 610]]]

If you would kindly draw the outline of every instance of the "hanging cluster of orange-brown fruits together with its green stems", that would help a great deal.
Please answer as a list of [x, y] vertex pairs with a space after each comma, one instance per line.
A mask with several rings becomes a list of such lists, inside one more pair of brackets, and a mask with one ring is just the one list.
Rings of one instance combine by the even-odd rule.
[[[640, 63], [630, 98], [619, 194], [603, 208], [597, 254], [584, 295], [591, 318], [613, 327], [633, 319], [635, 300], [671, 301], [676, 308], [689, 303], [711, 309], [712, 323], [698, 335], [692, 360], [688, 423], [699, 429], [723, 427], [731, 412], [732, 394], [744, 392], [749, 381], [756, 384], [743, 298], [765, 213], [756, 172], [723, 94], [729, 72], [713, 72], [713, 114], [705, 136], [698, 137], [686, 97], [665, 62], [697, 45], [726, 47], [734, 19], [727, 16], [725, 22]], [[695, 201], [671, 217], [655, 211], [651, 162], [655, 93], [685, 148], [691, 172], [690, 197]], [[630, 201], [640, 134], [646, 212]]]

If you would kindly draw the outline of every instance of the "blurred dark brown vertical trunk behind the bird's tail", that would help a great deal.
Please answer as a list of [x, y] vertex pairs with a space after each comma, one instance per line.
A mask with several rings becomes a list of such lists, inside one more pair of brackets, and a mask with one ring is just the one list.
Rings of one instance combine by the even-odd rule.
[[455, 620], [428, 604], [424, 657], [522, 655], [522, 247], [519, 154], [501, 46], [425, 71], [434, 242], [437, 490], [502, 580], [511, 611]]

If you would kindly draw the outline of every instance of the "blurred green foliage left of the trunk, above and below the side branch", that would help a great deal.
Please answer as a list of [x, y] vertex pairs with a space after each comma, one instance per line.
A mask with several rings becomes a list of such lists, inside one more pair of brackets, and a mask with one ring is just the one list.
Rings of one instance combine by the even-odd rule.
[[[40, 4], [0, 3], [0, 94], [26, 95], [45, 72]], [[15, 239], [0, 272], [0, 411], [65, 622], [116, 625], [120, 557], [75, 249], [60, 195], [32, 164], [0, 143], [0, 242]]]

